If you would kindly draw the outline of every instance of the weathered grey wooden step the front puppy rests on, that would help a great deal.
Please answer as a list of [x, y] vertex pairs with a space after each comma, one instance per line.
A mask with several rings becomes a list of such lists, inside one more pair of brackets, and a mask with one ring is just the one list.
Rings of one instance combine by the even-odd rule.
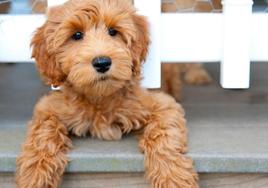
[[[249, 90], [218, 86], [218, 64], [209, 64], [209, 86], [185, 86], [183, 106], [189, 153], [199, 172], [268, 172], [268, 64], [252, 66]], [[13, 172], [38, 98], [48, 91], [32, 64], [0, 64], [0, 172]], [[16, 75], [16, 77], [14, 76]], [[69, 172], [142, 172], [143, 155], [134, 135], [121, 141], [74, 138]]]

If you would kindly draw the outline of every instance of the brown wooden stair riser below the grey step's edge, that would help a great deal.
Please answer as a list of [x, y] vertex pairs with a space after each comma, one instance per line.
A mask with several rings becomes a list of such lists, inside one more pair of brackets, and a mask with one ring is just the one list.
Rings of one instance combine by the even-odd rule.
[[[0, 187], [16, 188], [13, 174], [0, 174]], [[141, 173], [67, 174], [60, 188], [148, 188]], [[268, 174], [201, 174], [200, 188], [267, 188]]]

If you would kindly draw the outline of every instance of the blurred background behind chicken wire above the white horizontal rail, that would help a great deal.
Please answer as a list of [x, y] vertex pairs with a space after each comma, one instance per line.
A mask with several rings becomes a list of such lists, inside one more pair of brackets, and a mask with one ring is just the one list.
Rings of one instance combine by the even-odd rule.
[[[46, 0], [0, 0], [1, 14], [40, 14]], [[268, 12], [267, 0], [254, 0], [255, 12]], [[163, 12], [221, 12], [221, 0], [162, 0]]]

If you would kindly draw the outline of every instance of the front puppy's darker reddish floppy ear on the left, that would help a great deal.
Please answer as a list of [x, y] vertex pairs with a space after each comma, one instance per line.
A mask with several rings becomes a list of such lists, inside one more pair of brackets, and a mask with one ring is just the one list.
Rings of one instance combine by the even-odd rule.
[[47, 21], [37, 29], [32, 38], [32, 57], [35, 58], [37, 68], [46, 84], [60, 85], [64, 80], [59, 64], [55, 59], [55, 52], [51, 49], [53, 32], [56, 23]]

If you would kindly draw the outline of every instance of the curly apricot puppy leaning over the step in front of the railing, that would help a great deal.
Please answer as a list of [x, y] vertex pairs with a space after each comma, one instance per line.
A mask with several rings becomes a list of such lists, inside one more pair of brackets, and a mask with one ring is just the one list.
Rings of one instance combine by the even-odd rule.
[[[184, 111], [163, 93], [140, 87], [148, 51], [144, 17], [125, 0], [71, 0], [52, 8], [33, 40], [48, 84], [17, 159], [20, 188], [56, 188], [72, 148], [69, 134], [118, 140], [140, 130], [139, 147], [153, 188], [197, 188]], [[90, 185], [89, 185], [90, 187]]]

